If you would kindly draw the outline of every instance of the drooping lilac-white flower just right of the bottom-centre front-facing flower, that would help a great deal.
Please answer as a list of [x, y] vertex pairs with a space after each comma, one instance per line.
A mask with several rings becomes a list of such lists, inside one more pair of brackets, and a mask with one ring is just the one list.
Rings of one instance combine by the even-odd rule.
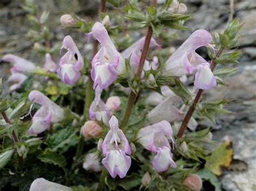
[[[172, 160], [171, 146], [166, 138], [166, 136], [169, 136], [172, 139], [172, 134], [171, 125], [167, 121], [146, 126], [138, 132], [138, 142], [147, 150], [157, 153], [152, 164], [158, 172], [166, 171], [169, 166], [177, 167], [176, 163]], [[174, 147], [173, 139], [172, 144]]]

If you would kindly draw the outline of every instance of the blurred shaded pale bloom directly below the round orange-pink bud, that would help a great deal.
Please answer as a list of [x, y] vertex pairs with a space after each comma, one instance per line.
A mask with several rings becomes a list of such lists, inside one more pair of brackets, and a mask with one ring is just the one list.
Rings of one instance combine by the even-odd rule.
[[102, 171], [102, 166], [100, 166], [99, 157], [96, 154], [96, 152], [85, 155], [83, 168], [86, 169], [86, 171], [94, 171], [94, 172]]

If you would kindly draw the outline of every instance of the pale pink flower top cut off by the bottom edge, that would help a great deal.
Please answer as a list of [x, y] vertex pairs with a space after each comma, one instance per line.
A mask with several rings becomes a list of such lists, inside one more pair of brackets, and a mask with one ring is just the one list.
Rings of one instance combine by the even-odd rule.
[[63, 185], [60, 185], [59, 183], [45, 180], [44, 178], [38, 178], [38, 179], [34, 180], [31, 184], [29, 190], [30, 191], [39, 191], [39, 190], [72, 191], [72, 189], [67, 186], [63, 186]]

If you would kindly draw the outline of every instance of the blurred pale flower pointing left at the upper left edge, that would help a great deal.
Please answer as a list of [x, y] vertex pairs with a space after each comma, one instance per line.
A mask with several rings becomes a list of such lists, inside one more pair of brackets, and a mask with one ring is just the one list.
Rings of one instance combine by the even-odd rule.
[[6, 62], [11, 62], [14, 66], [11, 68], [11, 72], [30, 72], [36, 69], [36, 65], [33, 62], [25, 60], [14, 54], [5, 54], [2, 60]]

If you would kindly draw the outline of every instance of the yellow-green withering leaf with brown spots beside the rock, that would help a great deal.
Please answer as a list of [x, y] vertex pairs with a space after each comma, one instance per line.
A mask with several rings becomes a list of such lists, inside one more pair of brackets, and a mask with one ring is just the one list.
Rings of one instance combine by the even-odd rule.
[[205, 168], [210, 169], [213, 174], [221, 175], [221, 167], [230, 166], [232, 161], [233, 149], [230, 145], [231, 143], [226, 141], [215, 148], [210, 157], [207, 157]]

